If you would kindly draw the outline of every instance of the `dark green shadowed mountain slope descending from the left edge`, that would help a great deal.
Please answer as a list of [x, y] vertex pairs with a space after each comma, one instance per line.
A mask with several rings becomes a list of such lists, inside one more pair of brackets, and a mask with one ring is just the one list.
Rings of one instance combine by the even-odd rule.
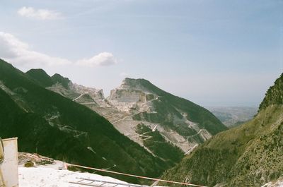
[[116, 165], [115, 171], [146, 176], [159, 176], [168, 167], [96, 112], [46, 90], [2, 60], [0, 106], [0, 136], [18, 136], [19, 151], [90, 167]]

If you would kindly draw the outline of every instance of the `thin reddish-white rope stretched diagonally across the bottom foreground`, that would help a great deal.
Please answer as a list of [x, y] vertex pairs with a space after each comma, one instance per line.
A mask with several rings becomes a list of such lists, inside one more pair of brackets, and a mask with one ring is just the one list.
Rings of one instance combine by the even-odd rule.
[[139, 179], [148, 179], [148, 180], [151, 180], [151, 181], [161, 181], [161, 182], [166, 182], [166, 183], [177, 183], [177, 184], [182, 184], [182, 185], [186, 185], [186, 186], [207, 187], [207, 186], [201, 186], [201, 185], [192, 184], [192, 183], [168, 181], [168, 180], [163, 180], [163, 179], [155, 179], [155, 178], [151, 178], [151, 177], [147, 177], [147, 176], [125, 174], [125, 173], [120, 173], [120, 172], [117, 172], [117, 171], [108, 171], [108, 170], [105, 170], [105, 169], [98, 169], [98, 168], [93, 168], [93, 167], [83, 167], [83, 166], [80, 166], [80, 165], [77, 165], [77, 164], [68, 164], [68, 165], [73, 166], [73, 167], [80, 167], [80, 168], [84, 168], [84, 169], [92, 169], [92, 170], [96, 170], [96, 171], [103, 171], [103, 172], [107, 172], [107, 173], [111, 173], [111, 174], [120, 174], [120, 175], [124, 175], [124, 176], [132, 176], [132, 177], [139, 178]]

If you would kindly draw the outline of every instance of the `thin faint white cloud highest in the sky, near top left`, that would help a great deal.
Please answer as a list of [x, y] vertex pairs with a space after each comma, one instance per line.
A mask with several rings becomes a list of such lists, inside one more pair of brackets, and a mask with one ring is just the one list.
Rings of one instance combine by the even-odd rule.
[[62, 14], [57, 11], [47, 9], [35, 9], [33, 7], [23, 6], [18, 10], [18, 15], [26, 18], [35, 18], [37, 20], [55, 20], [62, 18]]

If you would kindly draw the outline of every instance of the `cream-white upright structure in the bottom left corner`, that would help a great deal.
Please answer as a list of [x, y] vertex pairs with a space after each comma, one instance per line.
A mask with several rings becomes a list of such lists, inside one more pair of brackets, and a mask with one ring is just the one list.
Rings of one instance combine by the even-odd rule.
[[18, 138], [3, 139], [4, 162], [0, 164], [5, 187], [18, 187]]

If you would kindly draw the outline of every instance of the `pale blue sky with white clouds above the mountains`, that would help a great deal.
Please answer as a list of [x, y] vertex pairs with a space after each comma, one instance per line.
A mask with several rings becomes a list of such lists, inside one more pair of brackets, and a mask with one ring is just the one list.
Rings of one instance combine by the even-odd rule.
[[283, 73], [282, 0], [1, 0], [0, 58], [107, 97], [126, 77], [202, 106], [258, 107]]

